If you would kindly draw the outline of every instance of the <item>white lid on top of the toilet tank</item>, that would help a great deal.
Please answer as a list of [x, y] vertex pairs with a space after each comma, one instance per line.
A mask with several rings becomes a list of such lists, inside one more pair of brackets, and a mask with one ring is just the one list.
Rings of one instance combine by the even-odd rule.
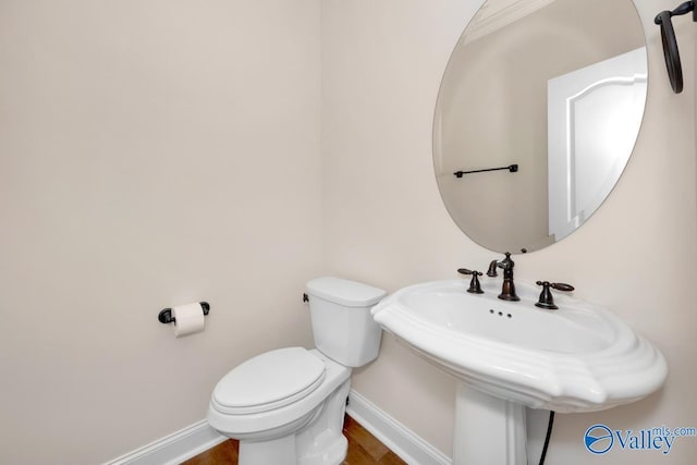
[[370, 307], [387, 295], [381, 289], [331, 277], [308, 281], [307, 293], [346, 307]]

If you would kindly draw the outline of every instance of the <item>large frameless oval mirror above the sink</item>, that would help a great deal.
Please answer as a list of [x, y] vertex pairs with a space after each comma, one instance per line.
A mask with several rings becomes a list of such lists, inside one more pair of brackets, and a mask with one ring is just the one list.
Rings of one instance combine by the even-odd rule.
[[488, 0], [443, 75], [433, 166], [457, 225], [496, 252], [561, 241], [634, 149], [647, 89], [632, 0]]

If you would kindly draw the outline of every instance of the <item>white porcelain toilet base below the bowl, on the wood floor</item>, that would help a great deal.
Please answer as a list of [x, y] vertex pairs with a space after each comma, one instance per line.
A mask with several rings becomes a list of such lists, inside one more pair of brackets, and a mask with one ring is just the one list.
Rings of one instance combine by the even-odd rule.
[[348, 450], [342, 431], [350, 390], [351, 379], [346, 379], [294, 433], [268, 441], [241, 439], [239, 465], [341, 464]]

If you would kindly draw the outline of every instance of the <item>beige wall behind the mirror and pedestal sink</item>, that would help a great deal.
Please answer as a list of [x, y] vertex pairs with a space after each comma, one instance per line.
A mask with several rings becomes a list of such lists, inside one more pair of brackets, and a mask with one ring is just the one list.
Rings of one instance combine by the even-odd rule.
[[[476, 4], [475, 4], [476, 3]], [[322, 160], [326, 257], [331, 271], [389, 291], [454, 279], [492, 254], [464, 236], [440, 200], [431, 162], [431, 119], [450, 51], [479, 0], [322, 2]], [[653, 16], [668, 0], [637, 0], [648, 35], [649, 97], [625, 175], [586, 225], [560, 244], [516, 258], [518, 280], [559, 280], [645, 333], [665, 354], [665, 388], [636, 404], [560, 415], [550, 464], [692, 464], [697, 438], [669, 456], [583, 446], [595, 423], [617, 429], [697, 426], [695, 27], [675, 20], [685, 91], [673, 95]], [[450, 454], [454, 381], [384, 338], [380, 357], [354, 387]]]

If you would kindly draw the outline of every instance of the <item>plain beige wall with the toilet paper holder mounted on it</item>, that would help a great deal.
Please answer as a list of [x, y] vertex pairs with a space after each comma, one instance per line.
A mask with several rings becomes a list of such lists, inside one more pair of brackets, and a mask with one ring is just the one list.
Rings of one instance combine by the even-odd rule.
[[[95, 464], [310, 345], [319, 2], [0, 3], [0, 463]], [[203, 334], [161, 308], [206, 299]]]

